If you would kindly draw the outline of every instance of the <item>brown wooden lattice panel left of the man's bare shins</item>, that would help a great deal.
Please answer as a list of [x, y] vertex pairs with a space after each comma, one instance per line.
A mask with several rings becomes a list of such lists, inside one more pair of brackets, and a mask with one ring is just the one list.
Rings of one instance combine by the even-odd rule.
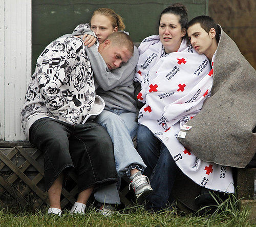
[[47, 194], [40, 187], [44, 178], [44, 169], [36, 161], [40, 155], [37, 149], [29, 154], [23, 147], [0, 148], [0, 200], [3, 205], [39, 208], [47, 200]]

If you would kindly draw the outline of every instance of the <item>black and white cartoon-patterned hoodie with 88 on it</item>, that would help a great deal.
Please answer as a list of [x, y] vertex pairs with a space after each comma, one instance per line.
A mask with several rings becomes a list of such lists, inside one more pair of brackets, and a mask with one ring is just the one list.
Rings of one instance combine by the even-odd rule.
[[104, 108], [95, 87], [86, 48], [77, 37], [60, 37], [38, 57], [21, 112], [28, 138], [30, 126], [44, 117], [69, 124], [86, 122]]

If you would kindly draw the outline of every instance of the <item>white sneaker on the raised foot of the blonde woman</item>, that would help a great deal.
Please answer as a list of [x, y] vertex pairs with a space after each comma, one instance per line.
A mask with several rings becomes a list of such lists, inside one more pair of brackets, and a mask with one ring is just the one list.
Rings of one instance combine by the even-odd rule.
[[129, 190], [130, 186], [132, 186], [138, 203], [141, 204], [144, 198], [153, 192], [153, 189], [150, 186], [150, 180], [147, 176], [142, 175], [140, 171], [132, 175], [130, 180], [131, 184], [129, 185]]

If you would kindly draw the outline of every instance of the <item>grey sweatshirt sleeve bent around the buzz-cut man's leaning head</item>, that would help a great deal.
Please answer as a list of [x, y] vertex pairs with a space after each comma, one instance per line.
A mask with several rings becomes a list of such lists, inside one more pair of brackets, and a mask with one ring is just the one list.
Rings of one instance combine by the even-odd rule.
[[103, 90], [111, 90], [116, 86], [130, 86], [133, 84], [136, 65], [139, 59], [139, 52], [134, 47], [133, 57], [115, 70], [109, 70], [95, 46], [86, 48], [94, 78]]

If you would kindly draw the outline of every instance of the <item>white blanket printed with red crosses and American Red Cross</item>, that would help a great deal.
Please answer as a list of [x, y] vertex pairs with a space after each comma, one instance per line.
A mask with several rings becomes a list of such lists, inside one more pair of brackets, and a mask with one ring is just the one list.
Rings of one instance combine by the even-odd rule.
[[197, 184], [233, 193], [231, 168], [200, 160], [177, 140], [180, 129], [196, 116], [210, 94], [212, 70], [208, 59], [185, 40], [177, 52], [170, 54], [164, 54], [158, 36], [144, 40], [135, 78], [142, 88], [137, 98], [145, 103], [139, 124], [165, 144], [178, 167]]

